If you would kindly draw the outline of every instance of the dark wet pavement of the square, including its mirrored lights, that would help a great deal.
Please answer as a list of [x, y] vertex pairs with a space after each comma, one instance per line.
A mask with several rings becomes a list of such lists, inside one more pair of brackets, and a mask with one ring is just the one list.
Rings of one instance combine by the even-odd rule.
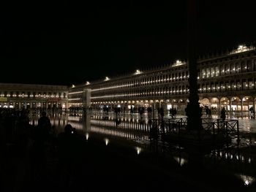
[[[178, 117], [184, 117], [179, 115]], [[170, 118], [168, 115], [165, 118]], [[217, 116], [213, 115], [213, 118]], [[233, 118], [233, 117], [231, 117]], [[235, 117], [236, 118], [236, 117]], [[33, 118], [31, 118], [33, 119]], [[256, 120], [239, 118], [242, 147], [197, 153], [148, 139], [147, 115], [56, 115], [51, 123], [60, 133], [70, 123], [80, 135], [68, 166], [48, 147], [45, 161], [15, 146], [2, 151], [4, 191], [255, 191]], [[143, 123], [141, 123], [143, 122]], [[37, 124], [37, 117], [31, 120]], [[36, 161], [38, 164], [33, 164]]]

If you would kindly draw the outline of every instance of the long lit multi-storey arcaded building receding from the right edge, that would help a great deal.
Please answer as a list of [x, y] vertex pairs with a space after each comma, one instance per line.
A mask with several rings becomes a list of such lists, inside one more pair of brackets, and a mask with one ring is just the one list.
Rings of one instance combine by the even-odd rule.
[[[242, 45], [228, 53], [200, 57], [197, 68], [200, 104], [236, 111], [255, 106], [255, 47]], [[164, 106], [184, 112], [189, 95], [188, 78], [186, 62], [176, 61], [170, 66], [76, 85], [69, 89], [69, 94], [74, 96], [72, 101], [78, 99], [79, 105], [83, 90], [91, 89], [94, 108]]]

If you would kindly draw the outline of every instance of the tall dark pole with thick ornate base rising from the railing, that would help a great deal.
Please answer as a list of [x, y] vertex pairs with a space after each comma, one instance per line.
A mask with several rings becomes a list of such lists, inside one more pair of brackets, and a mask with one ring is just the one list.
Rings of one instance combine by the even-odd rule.
[[188, 0], [188, 64], [189, 64], [189, 102], [187, 104], [187, 128], [200, 130], [202, 128], [197, 93], [197, 42], [196, 42], [196, 0]]

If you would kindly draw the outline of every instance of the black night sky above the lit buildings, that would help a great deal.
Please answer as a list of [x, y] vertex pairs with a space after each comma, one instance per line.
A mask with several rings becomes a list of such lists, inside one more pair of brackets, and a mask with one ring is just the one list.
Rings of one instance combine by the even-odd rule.
[[[197, 2], [199, 53], [256, 41], [254, 1]], [[0, 82], [71, 85], [187, 56], [187, 1], [22, 1], [5, 7]]]

